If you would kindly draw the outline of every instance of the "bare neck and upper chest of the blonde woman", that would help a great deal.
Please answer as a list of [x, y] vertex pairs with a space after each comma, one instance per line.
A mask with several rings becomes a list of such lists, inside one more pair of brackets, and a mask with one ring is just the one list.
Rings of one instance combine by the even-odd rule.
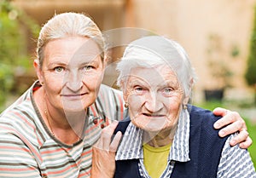
[[34, 94], [34, 98], [51, 134], [67, 145], [79, 141], [84, 131], [86, 112], [64, 112], [57, 109], [50, 104], [47, 96], [40, 94], [44, 89], [40, 90], [38, 89], [38, 94]]

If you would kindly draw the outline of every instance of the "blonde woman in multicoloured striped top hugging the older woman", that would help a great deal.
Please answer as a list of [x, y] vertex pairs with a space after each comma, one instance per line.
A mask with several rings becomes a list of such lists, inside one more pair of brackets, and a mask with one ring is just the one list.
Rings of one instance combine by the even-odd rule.
[[[126, 116], [120, 92], [101, 84], [105, 56], [102, 32], [84, 14], [56, 14], [42, 27], [38, 81], [0, 117], [0, 177], [90, 177], [102, 128]], [[232, 118], [227, 133], [246, 128]], [[249, 146], [246, 133], [235, 144]]]

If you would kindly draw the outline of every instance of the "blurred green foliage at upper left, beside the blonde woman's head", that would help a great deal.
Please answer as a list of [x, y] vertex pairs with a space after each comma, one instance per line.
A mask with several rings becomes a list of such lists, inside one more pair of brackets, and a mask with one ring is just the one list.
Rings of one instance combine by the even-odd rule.
[[21, 26], [27, 26], [32, 34], [39, 26], [8, 0], [0, 0], [0, 107], [4, 104], [15, 83], [15, 74], [30, 67], [26, 51], [26, 36]]

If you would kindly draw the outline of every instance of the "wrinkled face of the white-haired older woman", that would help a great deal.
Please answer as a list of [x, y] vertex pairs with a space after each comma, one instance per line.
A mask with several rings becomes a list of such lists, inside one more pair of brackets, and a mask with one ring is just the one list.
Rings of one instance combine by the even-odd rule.
[[124, 99], [131, 122], [149, 132], [172, 129], [177, 123], [183, 90], [168, 66], [133, 68]]

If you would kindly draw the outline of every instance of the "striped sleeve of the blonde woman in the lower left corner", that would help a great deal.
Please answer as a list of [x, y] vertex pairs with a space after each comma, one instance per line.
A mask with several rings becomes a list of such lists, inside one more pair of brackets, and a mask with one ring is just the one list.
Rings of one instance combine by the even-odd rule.
[[0, 122], [0, 177], [42, 177], [26, 140], [9, 123]]

